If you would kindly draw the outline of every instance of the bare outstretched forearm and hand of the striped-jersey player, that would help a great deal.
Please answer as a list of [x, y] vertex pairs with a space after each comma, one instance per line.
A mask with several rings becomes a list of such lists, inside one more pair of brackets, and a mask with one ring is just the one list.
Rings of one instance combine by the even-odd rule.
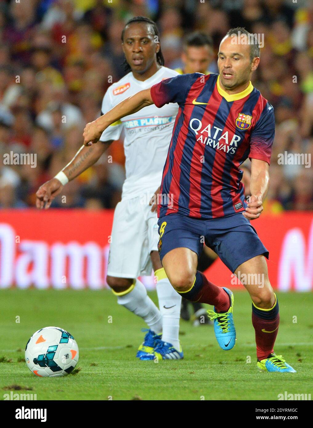
[[106, 114], [103, 114], [103, 116], [100, 116], [93, 122], [87, 123], [83, 133], [84, 145], [91, 146], [92, 143], [97, 143], [101, 134], [109, 125], [117, 122], [122, 117], [136, 113], [143, 107], [150, 106], [151, 104], [154, 104], [154, 102], [150, 95], [150, 89], [137, 92], [135, 95], [121, 101]]

